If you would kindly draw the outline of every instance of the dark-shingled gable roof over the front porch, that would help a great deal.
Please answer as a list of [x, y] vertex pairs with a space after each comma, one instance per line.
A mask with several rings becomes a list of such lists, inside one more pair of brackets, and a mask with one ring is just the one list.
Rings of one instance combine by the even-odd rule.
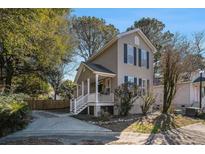
[[88, 68], [94, 74], [100, 74], [102, 76], [110, 76], [110, 77], [114, 77], [116, 75], [114, 72], [110, 71], [108, 68], [106, 68], [102, 65], [89, 63], [89, 62], [81, 62], [80, 66], [78, 68], [77, 74], [75, 76], [75, 80], [74, 80], [75, 82], [80, 77], [80, 74], [81, 74], [84, 67]]

